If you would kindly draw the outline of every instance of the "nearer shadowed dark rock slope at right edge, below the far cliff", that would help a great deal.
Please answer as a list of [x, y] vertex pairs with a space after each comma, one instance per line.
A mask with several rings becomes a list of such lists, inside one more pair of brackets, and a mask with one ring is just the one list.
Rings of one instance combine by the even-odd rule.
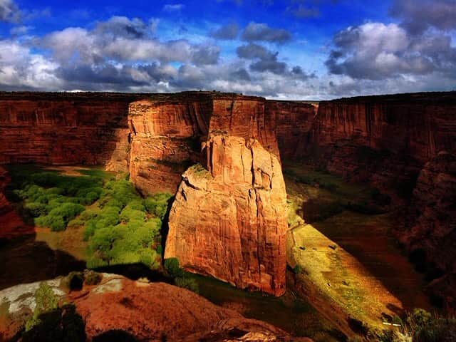
[[427, 264], [429, 276], [446, 274], [430, 290], [437, 290], [444, 303], [456, 309], [455, 288], [445, 286], [456, 281], [456, 155], [440, 152], [426, 163], [408, 213], [407, 224], [396, 227], [395, 234], [413, 254], [422, 251], [419, 261]]

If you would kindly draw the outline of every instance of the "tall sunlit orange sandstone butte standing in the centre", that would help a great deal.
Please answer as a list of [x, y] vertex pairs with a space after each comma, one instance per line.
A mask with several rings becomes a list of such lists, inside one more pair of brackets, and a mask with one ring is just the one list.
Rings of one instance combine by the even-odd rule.
[[274, 117], [261, 98], [214, 98], [203, 165], [190, 167], [165, 258], [242, 289], [285, 291], [286, 190]]

